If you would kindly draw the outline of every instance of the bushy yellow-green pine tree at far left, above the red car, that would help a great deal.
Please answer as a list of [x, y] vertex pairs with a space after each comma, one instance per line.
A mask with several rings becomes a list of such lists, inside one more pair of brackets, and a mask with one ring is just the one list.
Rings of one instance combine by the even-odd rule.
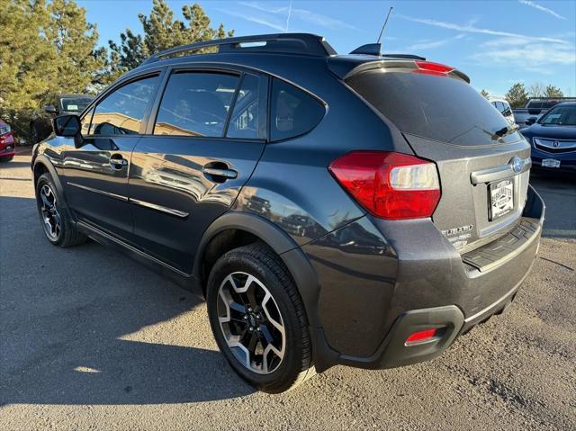
[[0, 116], [25, 137], [44, 96], [91, 90], [107, 56], [72, 0], [0, 0], [0, 10]]

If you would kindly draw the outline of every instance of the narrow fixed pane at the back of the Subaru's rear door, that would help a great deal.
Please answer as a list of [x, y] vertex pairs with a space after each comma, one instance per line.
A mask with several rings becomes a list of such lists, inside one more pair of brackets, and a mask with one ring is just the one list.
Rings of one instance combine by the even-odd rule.
[[238, 90], [234, 110], [228, 126], [229, 138], [257, 139], [259, 119], [260, 79], [245, 75]]

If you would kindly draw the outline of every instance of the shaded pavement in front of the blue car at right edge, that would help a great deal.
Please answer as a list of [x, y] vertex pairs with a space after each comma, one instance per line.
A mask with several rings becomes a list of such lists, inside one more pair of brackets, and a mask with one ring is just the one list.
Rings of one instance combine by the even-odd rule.
[[546, 205], [545, 238], [576, 238], [576, 174], [533, 170], [530, 184]]

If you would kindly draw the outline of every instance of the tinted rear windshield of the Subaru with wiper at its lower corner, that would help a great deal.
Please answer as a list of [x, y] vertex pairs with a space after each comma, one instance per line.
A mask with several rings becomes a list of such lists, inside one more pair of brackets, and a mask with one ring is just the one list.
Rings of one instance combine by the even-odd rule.
[[399, 130], [423, 138], [493, 144], [496, 132], [509, 126], [471, 85], [453, 77], [379, 70], [352, 76], [347, 84]]

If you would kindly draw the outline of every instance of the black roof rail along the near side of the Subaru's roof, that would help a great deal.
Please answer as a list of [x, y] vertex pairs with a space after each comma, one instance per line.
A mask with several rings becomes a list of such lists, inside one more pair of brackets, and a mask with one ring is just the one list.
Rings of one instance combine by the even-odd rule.
[[[244, 47], [242, 44], [258, 43], [257, 46]], [[316, 57], [336, 55], [337, 52], [321, 36], [311, 33], [278, 33], [241, 36], [236, 38], [206, 40], [166, 49], [148, 57], [142, 64], [169, 58], [188, 51], [218, 47], [218, 52], [271, 52], [304, 54]]]

